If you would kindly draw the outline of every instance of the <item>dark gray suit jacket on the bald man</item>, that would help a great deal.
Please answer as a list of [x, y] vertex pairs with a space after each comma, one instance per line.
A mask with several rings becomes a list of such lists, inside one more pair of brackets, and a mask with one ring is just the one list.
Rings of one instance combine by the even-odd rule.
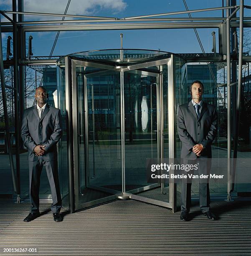
[[37, 105], [27, 108], [23, 114], [21, 137], [28, 148], [28, 161], [38, 161], [33, 150], [37, 145], [44, 145], [44, 161], [57, 159], [56, 144], [62, 137], [61, 113], [58, 108], [46, 104], [41, 118], [39, 118]]

